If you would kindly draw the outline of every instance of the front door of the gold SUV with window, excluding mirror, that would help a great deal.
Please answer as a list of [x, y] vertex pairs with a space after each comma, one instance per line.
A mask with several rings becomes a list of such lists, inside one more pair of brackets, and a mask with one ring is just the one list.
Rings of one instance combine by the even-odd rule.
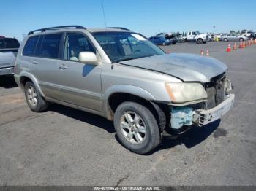
[[84, 51], [97, 52], [84, 34], [67, 33], [59, 61], [59, 100], [102, 111], [102, 67], [80, 63], [79, 53]]

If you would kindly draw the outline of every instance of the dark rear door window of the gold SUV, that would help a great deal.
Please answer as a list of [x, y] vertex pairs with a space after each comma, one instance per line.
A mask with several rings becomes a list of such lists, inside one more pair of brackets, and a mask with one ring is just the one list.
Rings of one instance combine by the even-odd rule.
[[47, 34], [42, 36], [36, 55], [45, 58], [59, 58], [59, 44], [62, 34]]

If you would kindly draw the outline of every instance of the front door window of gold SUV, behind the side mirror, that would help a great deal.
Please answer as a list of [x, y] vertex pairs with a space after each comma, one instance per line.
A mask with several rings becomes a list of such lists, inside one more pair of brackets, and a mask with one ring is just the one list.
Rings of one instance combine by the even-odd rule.
[[83, 34], [69, 33], [65, 39], [64, 59], [78, 61], [80, 52], [96, 52], [91, 42]]

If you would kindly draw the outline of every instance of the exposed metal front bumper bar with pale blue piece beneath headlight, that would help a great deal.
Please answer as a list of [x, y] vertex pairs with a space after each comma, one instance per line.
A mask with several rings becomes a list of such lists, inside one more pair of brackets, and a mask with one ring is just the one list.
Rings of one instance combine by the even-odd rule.
[[189, 106], [178, 106], [171, 109], [170, 128], [179, 130], [184, 126], [203, 126], [214, 122], [233, 108], [235, 100], [234, 94], [225, 96], [225, 100], [211, 109], [193, 109]]

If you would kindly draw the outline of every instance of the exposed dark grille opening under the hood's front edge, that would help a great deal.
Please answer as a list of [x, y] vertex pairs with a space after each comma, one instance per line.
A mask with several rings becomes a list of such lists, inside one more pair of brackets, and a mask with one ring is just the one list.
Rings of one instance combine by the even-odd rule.
[[224, 101], [225, 98], [225, 74], [211, 78], [211, 82], [205, 83], [207, 101], [205, 109], [211, 109]]

